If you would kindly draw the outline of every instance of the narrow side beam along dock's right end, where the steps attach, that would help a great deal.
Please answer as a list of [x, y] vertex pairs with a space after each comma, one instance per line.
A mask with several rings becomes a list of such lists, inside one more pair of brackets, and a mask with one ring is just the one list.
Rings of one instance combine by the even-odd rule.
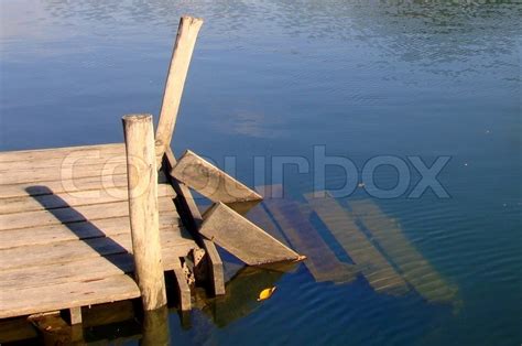
[[[176, 164], [176, 159], [174, 158], [171, 148], [167, 148], [165, 151], [164, 164], [167, 172], [171, 172], [172, 167]], [[184, 217], [185, 225], [192, 231], [195, 240], [205, 249], [205, 260], [207, 262], [206, 280], [210, 282], [215, 295], [222, 295], [225, 294], [225, 277], [219, 252], [214, 242], [203, 238], [198, 233], [203, 223], [203, 217], [199, 214], [191, 191], [185, 184], [178, 182], [171, 175], [168, 176], [171, 177], [171, 183], [177, 194], [176, 201], [178, 202], [180, 215]]]

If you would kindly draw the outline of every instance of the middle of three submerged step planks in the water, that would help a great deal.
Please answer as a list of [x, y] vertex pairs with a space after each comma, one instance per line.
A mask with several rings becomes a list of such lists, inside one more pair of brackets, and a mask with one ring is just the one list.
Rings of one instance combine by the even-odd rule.
[[409, 291], [404, 279], [368, 240], [337, 201], [328, 194], [324, 198], [316, 198], [313, 193], [305, 194], [305, 198], [377, 292], [402, 294]]

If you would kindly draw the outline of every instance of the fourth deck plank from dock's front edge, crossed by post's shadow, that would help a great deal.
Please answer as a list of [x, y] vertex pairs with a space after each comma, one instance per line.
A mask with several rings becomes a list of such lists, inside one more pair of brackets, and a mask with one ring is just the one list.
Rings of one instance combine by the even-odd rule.
[[[181, 226], [180, 216], [175, 212], [165, 212], [160, 215], [160, 229], [178, 231], [182, 238], [192, 239], [185, 227]], [[130, 234], [128, 216], [0, 231], [0, 249], [121, 234]]]

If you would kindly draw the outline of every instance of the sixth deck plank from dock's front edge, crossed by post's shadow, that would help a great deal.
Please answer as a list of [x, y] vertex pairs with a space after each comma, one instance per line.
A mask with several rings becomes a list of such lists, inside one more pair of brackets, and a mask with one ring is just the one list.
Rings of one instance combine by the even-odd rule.
[[[30, 190], [31, 191], [31, 190]], [[43, 192], [43, 188], [39, 188]], [[127, 187], [124, 188], [105, 188], [81, 191], [74, 194], [57, 193], [54, 194], [48, 191], [48, 194], [26, 196], [26, 197], [11, 197], [0, 198], [0, 214], [11, 213], [26, 213], [43, 209], [55, 209], [64, 207], [76, 207], [80, 205], [104, 204], [110, 202], [127, 201]], [[160, 197], [175, 197], [174, 190], [168, 184], [157, 185], [157, 196]]]

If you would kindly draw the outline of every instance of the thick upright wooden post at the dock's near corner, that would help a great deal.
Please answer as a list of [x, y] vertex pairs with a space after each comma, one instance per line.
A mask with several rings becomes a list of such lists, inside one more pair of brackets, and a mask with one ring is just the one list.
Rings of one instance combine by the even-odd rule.
[[166, 304], [157, 215], [157, 172], [151, 115], [123, 117], [132, 252], [143, 309]]

